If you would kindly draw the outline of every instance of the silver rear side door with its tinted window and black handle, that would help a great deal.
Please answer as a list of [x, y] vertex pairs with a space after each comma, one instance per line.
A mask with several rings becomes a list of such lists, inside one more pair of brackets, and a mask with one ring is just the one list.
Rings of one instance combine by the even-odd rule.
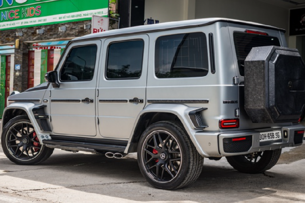
[[103, 46], [105, 66], [98, 84], [99, 133], [128, 139], [145, 106], [149, 37], [109, 38]]

